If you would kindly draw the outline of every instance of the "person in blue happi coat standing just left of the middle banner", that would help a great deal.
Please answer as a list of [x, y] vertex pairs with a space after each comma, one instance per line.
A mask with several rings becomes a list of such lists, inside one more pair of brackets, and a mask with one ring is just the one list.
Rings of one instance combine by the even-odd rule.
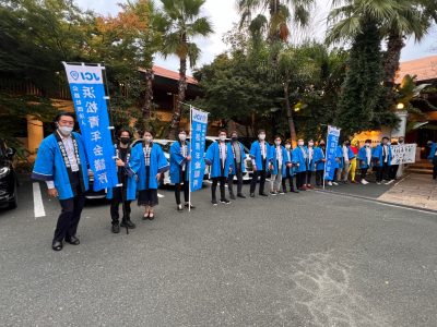
[[182, 211], [182, 204], [180, 201], [180, 191], [184, 187], [185, 207], [194, 208], [190, 202], [190, 161], [191, 161], [191, 147], [187, 141], [187, 131], [180, 130], [178, 141], [170, 146], [170, 181], [175, 184], [175, 197], [177, 210]]

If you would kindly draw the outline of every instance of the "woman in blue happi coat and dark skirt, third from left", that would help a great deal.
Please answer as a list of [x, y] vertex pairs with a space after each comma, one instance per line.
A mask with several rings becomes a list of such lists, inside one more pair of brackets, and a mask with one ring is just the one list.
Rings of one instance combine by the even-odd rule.
[[129, 166], [137, 174], [138, 205], [144, 206], [143, 219], [153, 220], [154, 207], [158, 205], [157, 187], [169, 165], [162, 147], [153, 142], [152, 131], [145, 131], [143, 141], [133, 146]]

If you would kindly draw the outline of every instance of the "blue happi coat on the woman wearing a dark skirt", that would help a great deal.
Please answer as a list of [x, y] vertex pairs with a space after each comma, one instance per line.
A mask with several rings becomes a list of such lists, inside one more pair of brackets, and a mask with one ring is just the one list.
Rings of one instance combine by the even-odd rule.
[[167, 159], [165, 158], [162, 147], [156, 143], [151, 143], [152, 150], [150, 154], [150, 170], [149, 170], [149, 189], [145, 184], [145, 158], [143, 152], [143, 143], [140, 142], [132, 148], [129, 166], [137, 173], [137, 190], [154, 190], [158, 187], [160, 181], [156, 174], [163, 173], [169, 169]]

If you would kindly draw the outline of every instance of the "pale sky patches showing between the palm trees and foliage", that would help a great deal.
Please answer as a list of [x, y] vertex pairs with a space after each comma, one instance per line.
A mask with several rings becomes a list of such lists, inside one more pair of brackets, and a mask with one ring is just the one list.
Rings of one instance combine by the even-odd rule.
[[[299, 37], [307, 35], [310, 37], [316, 37], [318, 40], [322, 40], [327, 28], [326, 17], [328, 15], [330, 8], [329, 3], [331, 0], [316, 1], [317, 9], [311, 20], [311, 26], [307, 32], [298, 32], [297, 34]], [[82, 9], [90, 9], [105, 15], [116, 15], [119, 11], [117, 3], [125, 2], [125, 0], [75, 0], [75, 2]], [[235, 3], [235, 0], [206, 0], [202, 14], [211, 20], [214, 28], [214, 35], [197, 40], [202, 50], [198, 66], [210, 63], [213, 61], [215, 56], [222, 53], [226, 49], [226, 46], [222, 41], [222, 36], [232, 29], [233, 24], [237, 23], [239, 20]], [[296, 33], [294, 33], [294, 35], [296, 35]], [[414, 39], [409, 39], [405, 48], [402, 51], [401, 61], [435, 55], [437, 55], [437, 27], [433, 28], [433, 31], [424, 40], [421, 41], [421, 44], [416, 44]], [[155, 59], [155, 64], [170, 70], [178, 70], [179, 66], [177, 58], [168, 58], [167, 60], [164, 60], [158, 56]]]

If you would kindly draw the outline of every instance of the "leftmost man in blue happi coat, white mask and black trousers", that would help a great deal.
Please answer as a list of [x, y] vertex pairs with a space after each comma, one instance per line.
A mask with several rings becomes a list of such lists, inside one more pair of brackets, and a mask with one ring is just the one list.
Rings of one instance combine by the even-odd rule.
[[63, 241], [79, 245], [79, 221], [88, 190], [87, 158], [79, 133], [73, 132], [74, 114], [61, 112], [55, 119], [57, 130], [39, 145], [32, 178], [47, 183], [48, 195], [61, 205], [51, 249], [61, 251]]

